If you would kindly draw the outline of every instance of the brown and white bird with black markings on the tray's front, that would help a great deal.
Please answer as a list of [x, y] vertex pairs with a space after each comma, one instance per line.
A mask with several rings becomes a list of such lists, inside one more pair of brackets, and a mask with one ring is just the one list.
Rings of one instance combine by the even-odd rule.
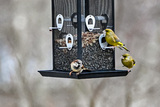
[[70, 76], [71, 76], [72, 72], [77, 72], [76, 75], [79, 75], [83, 70], [85, 70], [85, 68], [82, 64], [82, 61], [79, 59], [74, 60], [71, 63], [71, 69], [72, 69], [72, 71], [69, 73]]

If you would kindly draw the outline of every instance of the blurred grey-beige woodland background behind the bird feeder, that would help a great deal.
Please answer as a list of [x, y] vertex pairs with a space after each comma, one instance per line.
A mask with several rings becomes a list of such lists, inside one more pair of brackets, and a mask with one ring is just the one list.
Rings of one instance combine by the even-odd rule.
[[[115, 31], [136, 66], [126, 77], [42, 77], [52, 69], [51, 0], [0, 1], [0, 107], [158, 107], [160, 1], [115, 0]], [[122, 67], [116, 48], [116, 69]]]

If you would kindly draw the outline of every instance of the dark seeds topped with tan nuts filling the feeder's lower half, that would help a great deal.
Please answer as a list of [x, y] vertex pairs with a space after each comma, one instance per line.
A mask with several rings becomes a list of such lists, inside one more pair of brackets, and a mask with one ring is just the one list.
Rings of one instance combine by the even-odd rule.
[[[98, 38], [100, 33], [82, 32], [82, 62], [89, 70], [111, 70], [114, 69], [113, 50], [102, 50]], [[70, 71], [70, 63], [77, 59], [77, 35], [74, 37], [72, 50], [59, 49], [66, 47], [66, 39], [56, 39], [55, 42], [55, 68], [57, 70]]]

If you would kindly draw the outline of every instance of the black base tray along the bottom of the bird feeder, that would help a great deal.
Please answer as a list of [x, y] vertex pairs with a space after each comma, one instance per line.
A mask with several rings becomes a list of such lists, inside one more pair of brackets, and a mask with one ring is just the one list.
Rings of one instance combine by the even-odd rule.
[[83, 71], [79, 75], [75, 72], [69, 76], [70, 71], [55, 71], [55, 70], [42, 70], [38, 71], [42, 76], [59, 77], [59, 78], [73, 78], [73, 79], [89, 79], [89, 78], [102, 78], [102, 77], [117, 77], [128, 75], [128, 70], [108, 70], [108, 71]]

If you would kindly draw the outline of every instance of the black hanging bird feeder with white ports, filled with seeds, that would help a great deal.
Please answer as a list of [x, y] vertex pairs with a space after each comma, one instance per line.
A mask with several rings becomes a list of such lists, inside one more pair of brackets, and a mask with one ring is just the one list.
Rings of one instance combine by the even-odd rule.
[[[40, 74], [75, 79], [126, 76], [127, 70], [115, 69], [115, 49], [105, 41], [106, 28], [114, 30], [114, 0], [52, 0], [53, 69]], [[76, 59], [88, 70], [69, 76]]]

